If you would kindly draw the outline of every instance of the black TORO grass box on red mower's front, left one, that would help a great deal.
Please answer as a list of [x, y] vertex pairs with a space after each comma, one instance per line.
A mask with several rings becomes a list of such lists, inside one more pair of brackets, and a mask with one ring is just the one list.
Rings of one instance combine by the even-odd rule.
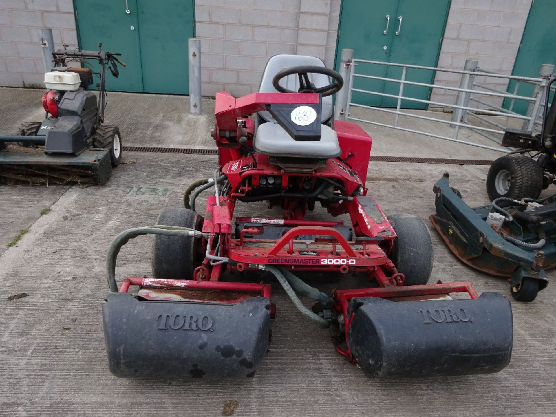
[[251, 377], [269, 344], [266, 297], [210, 304], [112, 292], [105, 301], [108, 366], [120, 378]]

